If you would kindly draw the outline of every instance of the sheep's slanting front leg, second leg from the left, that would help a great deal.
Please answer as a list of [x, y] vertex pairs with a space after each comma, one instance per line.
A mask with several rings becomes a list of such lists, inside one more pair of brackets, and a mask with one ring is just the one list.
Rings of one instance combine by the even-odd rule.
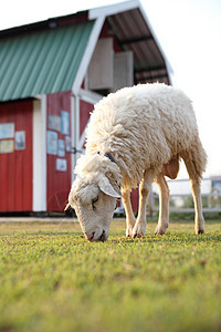
[[146, 221], [146, 207], [147, 207], [147, 198], [151, 188], [152, 180], [156, 176], [156, 170], [148, 169], [144, 173], [144, 178], [139, 185], [139, 210], [137, 221], [133, 229], [133, 237], [140, 238], [145, 235], [147, 228]]

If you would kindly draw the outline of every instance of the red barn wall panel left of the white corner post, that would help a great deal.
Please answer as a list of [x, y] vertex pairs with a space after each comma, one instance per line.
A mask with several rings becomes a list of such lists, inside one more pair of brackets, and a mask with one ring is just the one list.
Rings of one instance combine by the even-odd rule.
[[0, 211], [32, 210], [33, 102], [0, 105]]

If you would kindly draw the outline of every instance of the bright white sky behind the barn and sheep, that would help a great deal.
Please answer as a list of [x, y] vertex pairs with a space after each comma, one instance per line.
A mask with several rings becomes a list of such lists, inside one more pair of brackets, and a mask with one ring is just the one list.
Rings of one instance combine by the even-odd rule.
[[[7, 0], [1, 6], [0, 30], [116, 2], [122, 1]], [[173, 69], [173, 85], [193, 101], [209, 159], [206, 175], [221, 176], [221, 1], [140, 2]]]

